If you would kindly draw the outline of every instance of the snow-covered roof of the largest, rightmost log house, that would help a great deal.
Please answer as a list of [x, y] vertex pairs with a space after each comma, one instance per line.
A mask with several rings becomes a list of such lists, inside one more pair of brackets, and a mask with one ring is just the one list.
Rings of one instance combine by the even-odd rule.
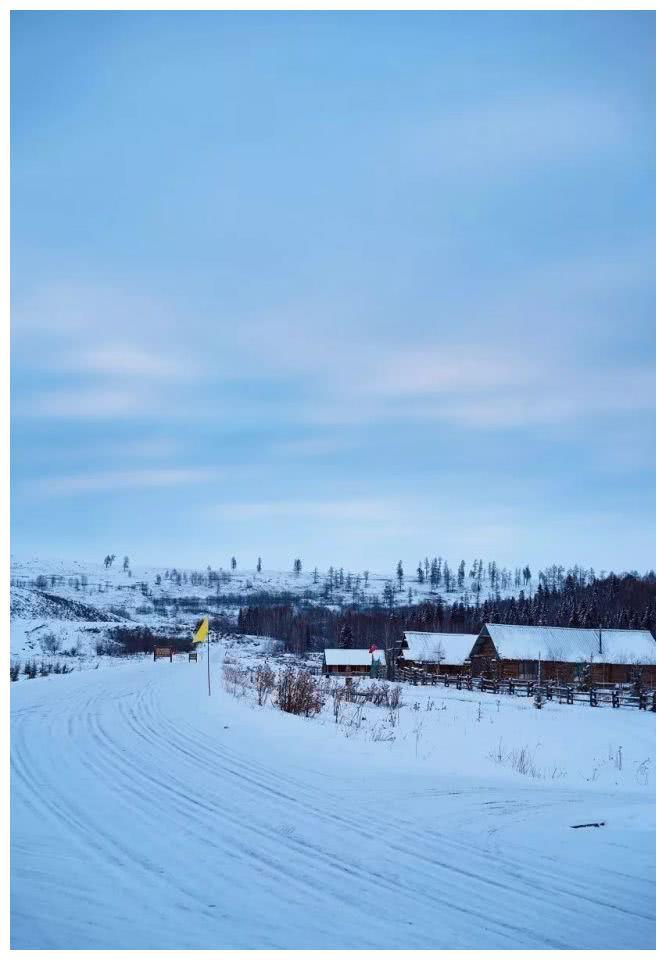
[[560, 660], [574, 663], [656, 663], [656, 643], [649, 630], [599, 630], [586, 627], [532, 627], [486, 623], [500, 657], [505, 660]]

